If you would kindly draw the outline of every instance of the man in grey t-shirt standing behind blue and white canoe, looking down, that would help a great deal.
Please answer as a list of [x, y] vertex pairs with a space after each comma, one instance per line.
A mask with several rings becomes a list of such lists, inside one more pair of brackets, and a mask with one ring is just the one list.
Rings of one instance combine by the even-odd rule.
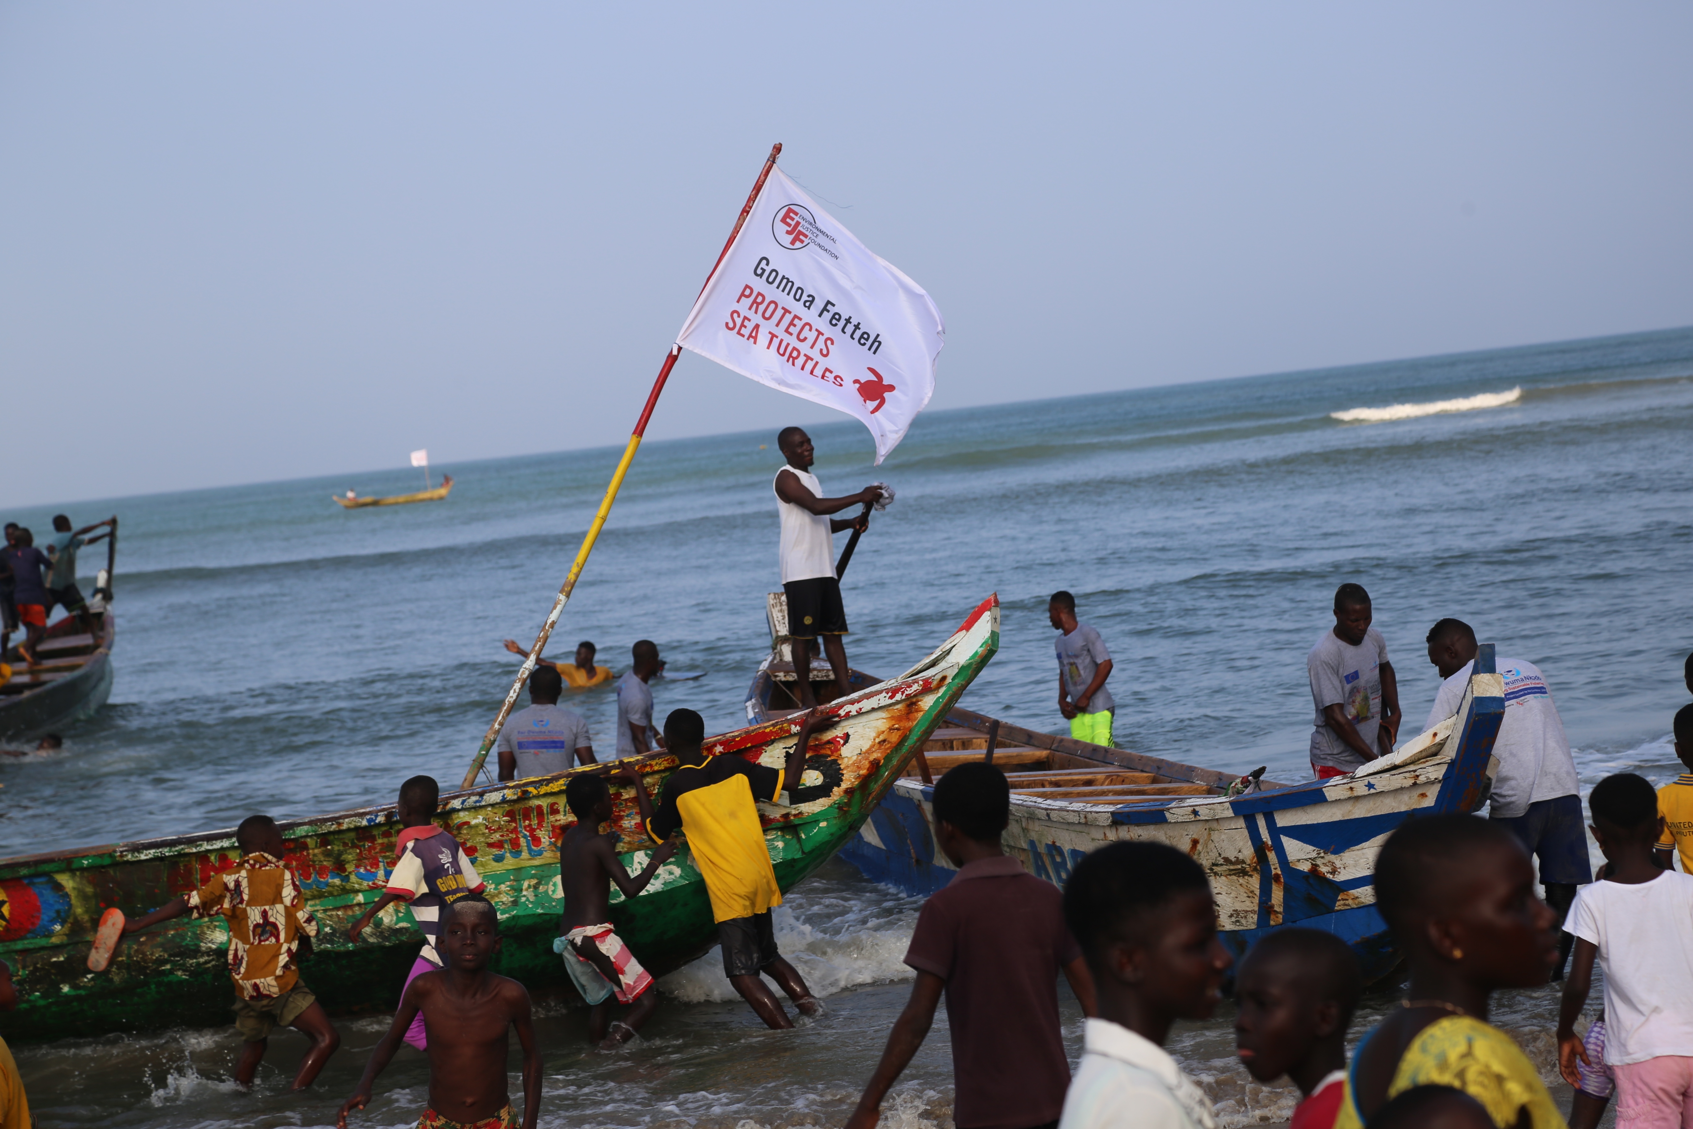
[[1341, 584], [1334, 592], [1334, 628], [1305, 657], [1317, 708], [1310, 770], [1319, 780], [1343, 777], [1393, 752], [1398, 738], [1398, 680], [1371, 620], [1370, 592], [1361, 584]]

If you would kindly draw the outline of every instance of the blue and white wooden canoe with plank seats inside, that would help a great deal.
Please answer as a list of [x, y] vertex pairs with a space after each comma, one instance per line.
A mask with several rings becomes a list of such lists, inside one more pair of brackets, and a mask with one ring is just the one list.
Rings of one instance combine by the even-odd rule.
[[[772, 635], [777, 630], [772, 609]], [[782, 638], [758, 669], [748, 721], [786, 714], [794, 679]], [[826, 669], [813, 672], [826, 696]], [[852, 674], [853, 689], [875, 679]], [[1011, 777], [1006, 851], [1036, 877], [1062, 885], [1090, 850], [1117, 840], [1155, 840], [1205, 867], [1224, 945], [1241, 956], [1282, 926], [1343, 938], [1370, 980], [1398, 963], [1375, 907], [1375, 858], [1412, 814], [1471, 812], [1493, 775], [1493, 738], [1505, 687], [1483, 645], [1458, 713], [1358, 772], [1307, 784], [1273, 784], [1158, 757], [1034, 733], [953, 708], [926, 750], [929, 770], [982, 760]], [[995, 740], [997, 738], [997, 740]], [[951, 880], [935, 846], [933, 785], [904, 777], [840, 856], [867, 878], [928, 895]]]

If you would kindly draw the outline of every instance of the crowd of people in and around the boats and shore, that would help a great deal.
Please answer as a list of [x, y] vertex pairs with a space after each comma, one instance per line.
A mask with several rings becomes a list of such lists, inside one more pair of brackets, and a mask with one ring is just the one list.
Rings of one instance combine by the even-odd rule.
[[[836, 686], [846, 687], [846, 620], [828, 538], [845, 528], [862, 531], [867, 518], [830, 515], [857, 504], [869, 511], [874, 487], [824, 498], [809, 474], [809, 437], [787, 428], [779, 445], [789, 462], [772, 489], [782, 508], [796, 696], [808, 697], [791, 718], [794, 743], [782, 765], [708, 757], [704, 719], [692, 709], [674, 709], [662, 731], [655, 728], [650, 682], [664, 664], [659, 648], [640, 640], [631, 669], [616, 680], [616, 755], [665, 750], [677, 767], [657, 797], [635, 762], [609, 774], [577, 774], [564, 789], [572, 823], [557, 843], [564, 909], [552, 951], [589, 1005], [589, 1041], [604, 1051], [633, 1039], [657, 1009], [653, 977], [613, 926], [611, 890], [638, 897], [682, 848], [679, 836], [704, 880], [735, 992], [772, 1029], [796, 1026], [789, 1009], [808, 1017], [823, 1012], [777, 945], [772, 909], [782, 894], [757, 804], [799, 802], [808, 745], [833, 724], [809, 699], [806, 672], [821, 636]], [[88, 543], [85, 535], [98, 528], [71, 530], [63, 516], [54, 525], [52, 555], [34, 550], [29, 531], [14, 526], [0, 553], [19, 618], [30, 628], [44, 623], [44, 601], [76, 611], [74, 564], [66, 587], [56, 562], [74, 560]], [[1046, 609], [1058, 631], [1060, 713], [1077, 740], [1112, 746], [1111, 652], [1077, 618], [1072, 592], [1055, 592]], [[1370, 594], [1343, 584], [1332, 613], [1334, 625], [1307, 657], [1309, 760], [1317, 782], [1341, 780], [1392, 755], [1403, 721]], [[1475, 630], [1454, 618], [1434, 623], [1424, 643], [1442, 679], [1424, 726], [1432, 730], [1459, 709], [1481, 648]], [[511, 640], [506, 647], [525, 653]], [[586, 719], [559, 704], [565, 686], [613, 682], [613, 672], [594, 658], [594, 645], [584, 642], [569, 664], [535, 665], [530, 706], [511, 714], [498, 741], [499, 780], [596, 763]], [[1505, 711], [1485, 818], [1407, 818], [1380, 848], [1375, 904], [1403, 955], [1407, 983], [1398, 1007], [1349, 1056], [1348, 1033], [1365, 980], [1341, 938], [1280, 928], [1236, 961], [1219, 938], [1209, 877], [1188, 853], [1156, 841], [1114, 841], [1080, 858], [1062, 885], [1046, 882], [1006, 853], [1011, 784], [1004, 772], [984, 760], [943, 774], [931, 794], [933, 831], [955, 873], [918, 916], [904, 958], [914, 972], [911, 995], [846, 1129], [879, 1122], [941, 1002], [951, 1036], [951, 1119], [960, 1129], [1214, 1129], [1205, 1092], [1166, 1044], [1177, 1022], [1210, 1017], [1226, 992], [1236, 1004], [1234, 1036], [1246, 1071], [1260, 1082], [1287, 1078], [1302, 1095], [1293, 1129], [1593, 1129], [1613, 1093], [1620, 1124], [1693, 1129], [1693, 950], [1686, 943], [1693, 928], [1693, 704], [1673, 721], [1686, 774], [1659, 789], [1635, 774], [1610, 775], [1593, 787], [1583, 812], [1546, 677], [1522, 658], [1497, 657], [1495, 669]], [[1685, 675], [1693, 692], [1693, 655]], [[620, 856], [620, 833], [603, 831], [613, 818], [613, 782], [630, 789], [640, 811], [647, 860], [638, 873]], [[422, 948], [400, 985], [391, 1026], [337, 1124], [347, 1126], [371, 1102], [378, 1077], [408, 1044], [430, 1063], [420, 1129], [533, 1129], [542, 1053], [530, 995], [491, 970], [503, 945], [499, 912], [472, 858], [442, 826], [438, 804], [432, 777], [401, 784], [391, 873], [381, 895], [347, 924], [349, 941], [359, 945], [372, 922], [396, 921], [391, 909], [403, 906]], [[1598, 880], [1586, 831], [1605, 858]], [[293, 1087], [305, 1088], [340, 1046], [334, 1021], [301, 980], [301, 960], [323, 926], [283, 862], [274, 819], [249, 816], [235, 841], [234, 867], [124, 921], [122, 936], [183, 916], [222, 917], [244, 1044], [235, 1082], [251, 1085], [269, 1036], [293, 1027], [308, 1041], [293, 1075]], [[1603, 972], [1603, 1011], [1578, 1033], [1595, 965]], [[1558, 1068], [1574, 1088], [1568, 1121], [1524, 1049], [1488, 1022], [1493, 994], [1559, 978]], [[1085, 1016], [1073, 1075], [1060, 980]], [[10, 970], [0, 963], [0, 1009], [12, 1005]], [[613, 1014], [613, 1005], [621, 1011]], [[521, 1109], [513, 1105], [506, 1070], [513, 1033], [521, 1048]], [[0, 1129], [24, 1124], [27, 1099], [0, 1043]]]

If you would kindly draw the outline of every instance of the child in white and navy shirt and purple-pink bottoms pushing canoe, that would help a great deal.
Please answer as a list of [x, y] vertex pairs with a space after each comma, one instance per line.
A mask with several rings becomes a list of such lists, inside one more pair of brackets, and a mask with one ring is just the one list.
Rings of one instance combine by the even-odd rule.
[[[411, 961], [406, 983], [400, 989], [401, 995], [413, 980], [445, 963], [437, 951], [442, 911], [460, 897], [481, 894], [484, 885], [464, 848], [459, 846], [459, 840], [435, 824], [438, 804], [440, 785], [435, 777], [411, 777], [400, 785], [400, 801], [394, 804], [394, 814], [401, 826], [400, 838], [394, 841], [400, 858], [394, 860], [394, 870], [388, 875], [388, 889], [383, 895], [347, 926], [347, 936], [357, 943], [376, 914], [394, 902], [405, 902], [411, 909], [411, 921], [423, 931], [423, 948]], [[423, 1033], [422, 1014], [406, 1031], [406, 1043], [420, 1051], [427, 1049], [428, 1036]]]

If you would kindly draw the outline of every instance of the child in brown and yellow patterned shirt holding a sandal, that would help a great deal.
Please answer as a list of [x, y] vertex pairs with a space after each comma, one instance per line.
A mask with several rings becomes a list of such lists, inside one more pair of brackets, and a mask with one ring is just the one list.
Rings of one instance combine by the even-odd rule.
[[235, 982], [235, 1029], [245, 1039], [235, 1085], [252, 1085], [271, 1033], [283, 1026], [312, 1039], [300, 1060], [295, 1090], [305, 1090], [340, 1046], [340, 1034], [305, 983], [301, 950], [312, 951], [318, 924], [300, 884], [283, 867], [283, 833], [269, 816], [247, 816], [235, 829], [240, 862], [203, 887], [124, 922], [124, 934], [191, 914], [218, 914], [229, 924], [229, 975]]

